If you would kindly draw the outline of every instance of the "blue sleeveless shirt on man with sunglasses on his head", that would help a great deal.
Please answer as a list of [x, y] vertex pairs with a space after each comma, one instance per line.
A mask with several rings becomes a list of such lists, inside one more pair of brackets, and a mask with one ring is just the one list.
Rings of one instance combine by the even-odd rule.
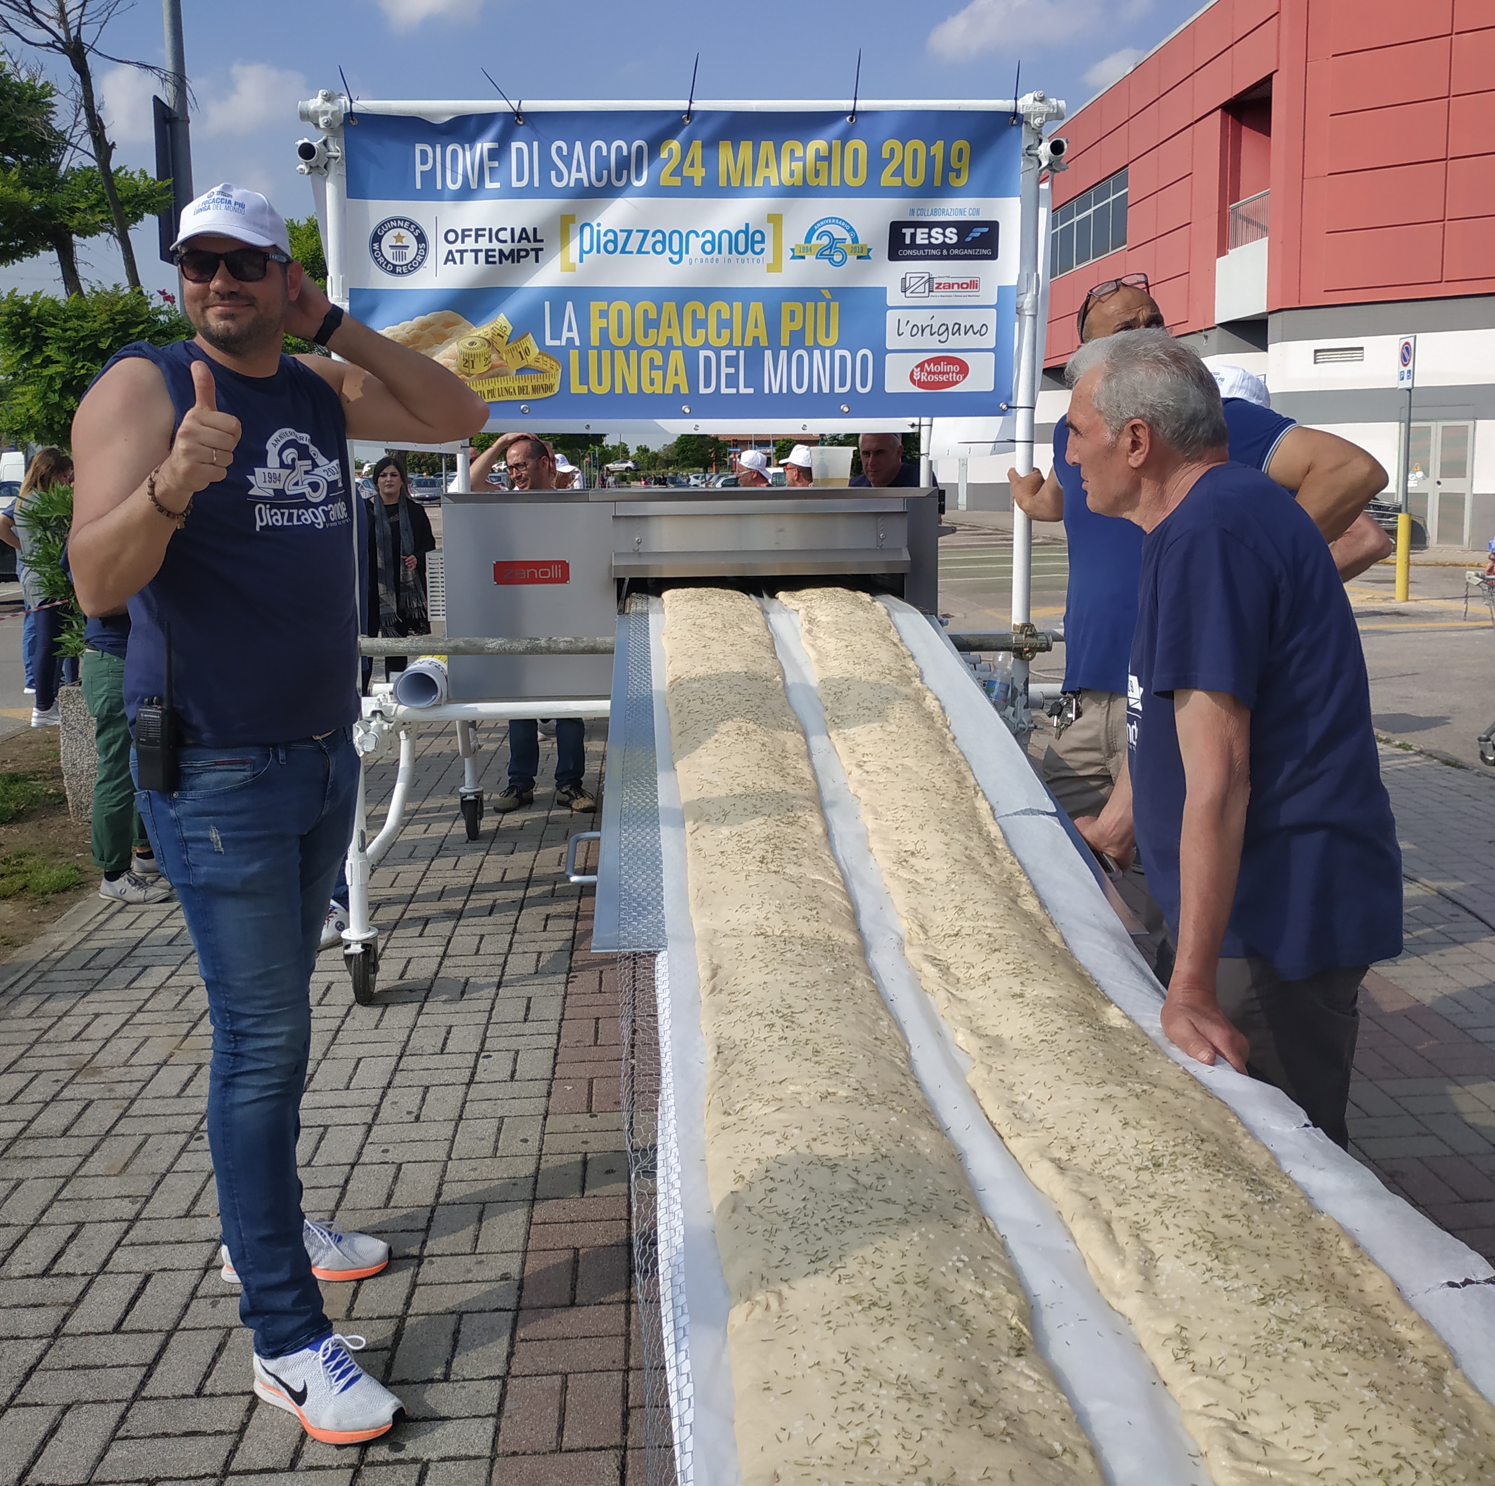
[[[1224, 399], [1230, 457], [1265, 469], [1283, 435], [1293, 428], [1271, 408], [1245, 398]], [[1069, 425], [1054, 429], [1054, 469], [1064, 489], [1064, 535], [1069, 538], [1069, 594], [1064, 599], [1064, 691], [1126, 689], [1126, 662], [1136, 626], [1136, 580], [1142, 571], [1142, 528], [1102, 516], [1085, 504], [1079, 465], [1064, 454]]]

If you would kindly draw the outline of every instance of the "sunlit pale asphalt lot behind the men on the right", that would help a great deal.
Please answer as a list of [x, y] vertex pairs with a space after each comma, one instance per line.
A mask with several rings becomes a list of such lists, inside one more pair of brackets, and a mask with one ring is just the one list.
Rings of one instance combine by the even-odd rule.
[[[1395, 598], [1395, 570], [1377, 565], [1348, 585], [1365, 647], [1371, 712], [1393, 742], [1480, 765], [1476, 739], [1495, 722], [1495, 617], [1480, 594], [1464, 617], [1464, 574], [1482, 555], [1450, 553], [1450, 567], [1414, 564], [1411, 598]], [[1006, 629], [1012, 614], [1012, 538], [961, 528], [940, 543], [940, 611], [952, 629]], [[1033, 622], [1060, 628], [1067, 550], [1052, 537], [1033, 547]], [[1064, 649], [1041, 656], [1035, 680], [1061, 680]]]

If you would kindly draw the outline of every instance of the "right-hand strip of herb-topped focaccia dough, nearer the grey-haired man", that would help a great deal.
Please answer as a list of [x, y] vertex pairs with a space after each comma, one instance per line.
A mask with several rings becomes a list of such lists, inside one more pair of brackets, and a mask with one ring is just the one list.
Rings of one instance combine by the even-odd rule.
[[[1058, 942], [881, 604], [798, 610], [906, 954], [1217, 1486], [1495, 1480], [1495, 1408], [1386, 1274]], [[1060, 943], [1060, 948], [1055, 948]]]

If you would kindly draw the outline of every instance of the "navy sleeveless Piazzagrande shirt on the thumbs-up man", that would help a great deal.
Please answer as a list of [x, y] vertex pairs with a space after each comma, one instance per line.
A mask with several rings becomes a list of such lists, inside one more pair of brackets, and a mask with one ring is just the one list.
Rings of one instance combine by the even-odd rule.
[[105, 371], [126, 357], [160, 368], [176, 425], [196, 402], [191, 363], [206, 362], [218, 411], [242, 426], [227, 478], [197, 492], [160, 571], [130, 599], [132, 730], [141, 703], [164, 694], [163, 625], [184, 742], [292, 743], [350, 725], [359, 715], [359, 559], [341, 398], [289, 356], [274, 377], [244, 377], [193, 341], [138, 341]]

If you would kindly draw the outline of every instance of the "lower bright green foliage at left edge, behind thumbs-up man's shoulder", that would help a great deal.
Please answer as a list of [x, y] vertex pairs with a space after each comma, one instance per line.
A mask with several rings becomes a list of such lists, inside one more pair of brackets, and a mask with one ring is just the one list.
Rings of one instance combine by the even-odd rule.
[[167, 345], [193, 333], [169, 295], [90, 289], [67, 299], [0, 299], [0, 429], [15, 444], [61, 444], [88, 384], [132, 341]]

